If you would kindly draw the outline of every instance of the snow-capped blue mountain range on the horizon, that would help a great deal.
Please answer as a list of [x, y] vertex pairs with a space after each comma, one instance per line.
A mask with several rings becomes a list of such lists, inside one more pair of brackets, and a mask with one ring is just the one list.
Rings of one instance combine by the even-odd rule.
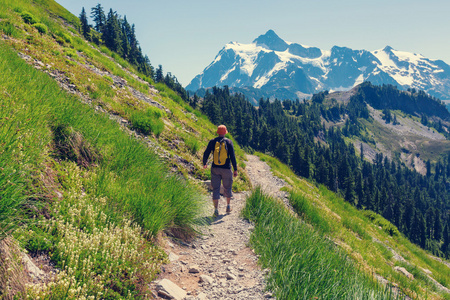
[[424, 90], [450, 99], [450, 66], [420, 54], [382, 50], [331, 50], [286, 42], [273, 30], [252, 44], [229, 43], [186, 89], [225, 86], [235, 90], [259, 89], [269, 97], [303, 98], [322, 90], [338, 91], [370, 81], [400, 89]]

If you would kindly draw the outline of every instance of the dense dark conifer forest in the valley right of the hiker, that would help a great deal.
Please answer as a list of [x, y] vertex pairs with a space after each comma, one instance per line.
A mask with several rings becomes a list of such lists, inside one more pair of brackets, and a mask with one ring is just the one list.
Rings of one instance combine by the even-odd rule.
[[[244, 148], [272, 154], [298, 175], [340, 193], [356, 207], [383, 215], [413, 243], [450, 257], [450, 153], [436, 164], [434, 173], [428, 162], [426, 176], [383, 154], [371, 163], [364, 159], [362, 148], [357, 154], [353, 144], [344, 140], [345, 134], [362, 126], [358, 118], [369, 117], [365, 102], [355, 96], [330, 108], [322, 103], [325, 96], [318, 94], [308, 102], [261, 99], [255, 108], [228, 87], [214, 87], [206, 92], [200, 109], [213, 123], [227, 124]], [[199, 100], [194, 95], [191, 105], [200, 106]], [[351, 124], [347, 128], [326, 129], [322, 124], [323, 115], [340, 119], [343, 114]]]

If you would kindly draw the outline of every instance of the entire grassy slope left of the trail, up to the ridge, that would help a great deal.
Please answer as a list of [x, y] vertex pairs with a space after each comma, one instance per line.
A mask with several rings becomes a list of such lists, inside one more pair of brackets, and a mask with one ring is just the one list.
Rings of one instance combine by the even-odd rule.
[[[77, 18], [55, 2], [2, 0], [0, 6], [7, 36], [0, 41], [0, 231], [18, 228], [14, 237], [22, 247], [48, 253], [62, 270], [55, 283], [22, 296], [146, 297], [164, 261], [151, 241], [161, 231], [192, 234], [207, 207], [203, 188], [190, 179], [209, 176], [200, 171], [200, 148], [215, 126], [164, 85], [155, 92], [125, 61], [65, 27]], [[48, 33], [26, 24], [25, 11]], [[116, 76], [128, 87], [117, 87]], [[52, 77], [84, 96], [68, 94]], [[165, 109], [139, 100], [132, 89]], [[130, 132], [115, 120], [150, 125], [153, 133]], [[164, 149], [165, 163], [148, 144]], [[248, 188], [244, 173], [236, 188]], [[8, 259], [19, 258], [0, 255], [0, 293], [11, 296], [21, 275], [4, 268]]]

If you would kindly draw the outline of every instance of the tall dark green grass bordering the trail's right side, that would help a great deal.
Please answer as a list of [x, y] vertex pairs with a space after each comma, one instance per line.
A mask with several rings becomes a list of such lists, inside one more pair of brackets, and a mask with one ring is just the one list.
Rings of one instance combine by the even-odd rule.
[[277, 299], [391, 299], [333, 243], [257, 188], [244, 216], [255, 223], [251, 246]]

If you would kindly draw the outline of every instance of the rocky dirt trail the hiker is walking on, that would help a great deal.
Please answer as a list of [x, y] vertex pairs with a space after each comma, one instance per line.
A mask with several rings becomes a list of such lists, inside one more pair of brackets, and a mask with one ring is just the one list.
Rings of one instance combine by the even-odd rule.
[[[246, 170], [253, 186], [260, 185], [273, 196], [285, 198], [285, 183], [272, 175], [270, 167], [253, 155]], [[203, 236], [190, 244], [167, 241], [170, 263], [153, 284], [156, 298], [171, 299], [267, 299], [264, 275], [257, 257], [248, 247], [252, 224], [240, 211], [249, 192], [235, 193], [233, 211], [225, 214], [226, 201], [219, 202], [219, 217], [203, 228]], [[209, 215], [212, 215], [212, 204]]]

